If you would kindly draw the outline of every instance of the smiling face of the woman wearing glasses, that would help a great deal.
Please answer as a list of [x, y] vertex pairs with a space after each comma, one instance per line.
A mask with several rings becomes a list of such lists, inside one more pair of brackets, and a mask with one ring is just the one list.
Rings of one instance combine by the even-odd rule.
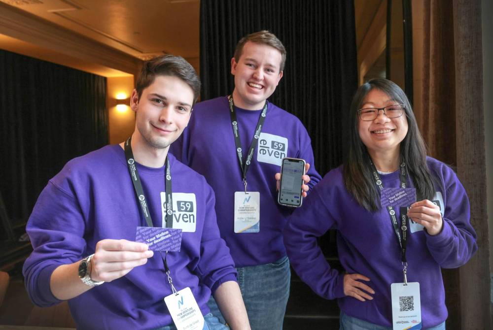
[[[379, 89], [372, 89], [363, 99], [360, 108], [383, 108], [400, 102], [390, 98]], [[373, 121], [363, 121], [358, 117], [358, 132], [361, 141], [370, 154], [399, 152], [399, 146], [408, 131], [406, 114], [397, 118], [388, 118], [379, 111]]]

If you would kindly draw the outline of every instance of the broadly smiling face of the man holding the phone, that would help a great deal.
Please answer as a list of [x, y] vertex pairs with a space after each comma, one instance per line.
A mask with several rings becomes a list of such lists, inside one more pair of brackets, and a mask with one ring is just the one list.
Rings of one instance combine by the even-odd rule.
[[282, 78], [281, 60], [281, 52], [276, 48], [246, 42], [238, 62], [231, 59], [231, 74], [235, 76], [235, 105], [247, 110], [261, 109]]

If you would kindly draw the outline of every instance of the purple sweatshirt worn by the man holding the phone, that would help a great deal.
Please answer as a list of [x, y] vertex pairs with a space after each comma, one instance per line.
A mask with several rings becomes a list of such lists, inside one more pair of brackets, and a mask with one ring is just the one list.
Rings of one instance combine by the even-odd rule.
[[[195, 105], [188, 127], [170, 149], [177, 159], [204, 175], [214, 190], [219, 231], [237, 267], [272, 263], [286, 255], [282, 229], [292, 209], [277, 203], [274, 178], [281, 170], [282, 158], [302, 158], [310, 163], [307, 173], [311, 177], [310, 187], [321, 179], [315, 170], [310, 137], [303, 124], [292, 114], [268, 104], [258, 146], [246, 174], [247, 190], [260, 193], [258, 233], [234, 232], [235, 192], [245, 191], [245, 187], [226, 97]], [[261, 109], [236, 108], [244, 157], [260, 113]]]

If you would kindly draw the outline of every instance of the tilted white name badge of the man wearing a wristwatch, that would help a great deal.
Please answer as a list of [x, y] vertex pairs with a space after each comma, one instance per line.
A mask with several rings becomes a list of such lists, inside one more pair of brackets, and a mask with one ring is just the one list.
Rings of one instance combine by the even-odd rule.
[[178, 330], [204, 329], [204, 316], [190, 288], [185, 288], [164, 298], [171, 318]]

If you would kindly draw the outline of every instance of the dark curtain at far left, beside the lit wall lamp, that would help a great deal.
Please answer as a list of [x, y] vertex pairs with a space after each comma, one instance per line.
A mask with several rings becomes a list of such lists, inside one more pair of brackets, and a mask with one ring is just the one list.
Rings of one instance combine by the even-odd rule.
[[106, 78], [0, 50], [1, 196], [26, 219], [71, 158], [108, 142]]

